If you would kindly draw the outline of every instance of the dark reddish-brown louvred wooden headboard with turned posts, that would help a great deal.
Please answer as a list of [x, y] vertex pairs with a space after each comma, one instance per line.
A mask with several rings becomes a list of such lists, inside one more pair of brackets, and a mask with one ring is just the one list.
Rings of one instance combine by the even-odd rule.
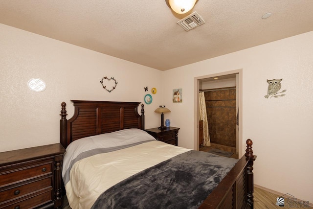
[[111, 102], [71, 100], [74, 115], [67, 120], [66, 103], [62, 102], [60, 142], [67, 148], [70, 142], [89, 136], [110, 133], [127, 128], [144, 129], [144, 109], [140, 102]]

